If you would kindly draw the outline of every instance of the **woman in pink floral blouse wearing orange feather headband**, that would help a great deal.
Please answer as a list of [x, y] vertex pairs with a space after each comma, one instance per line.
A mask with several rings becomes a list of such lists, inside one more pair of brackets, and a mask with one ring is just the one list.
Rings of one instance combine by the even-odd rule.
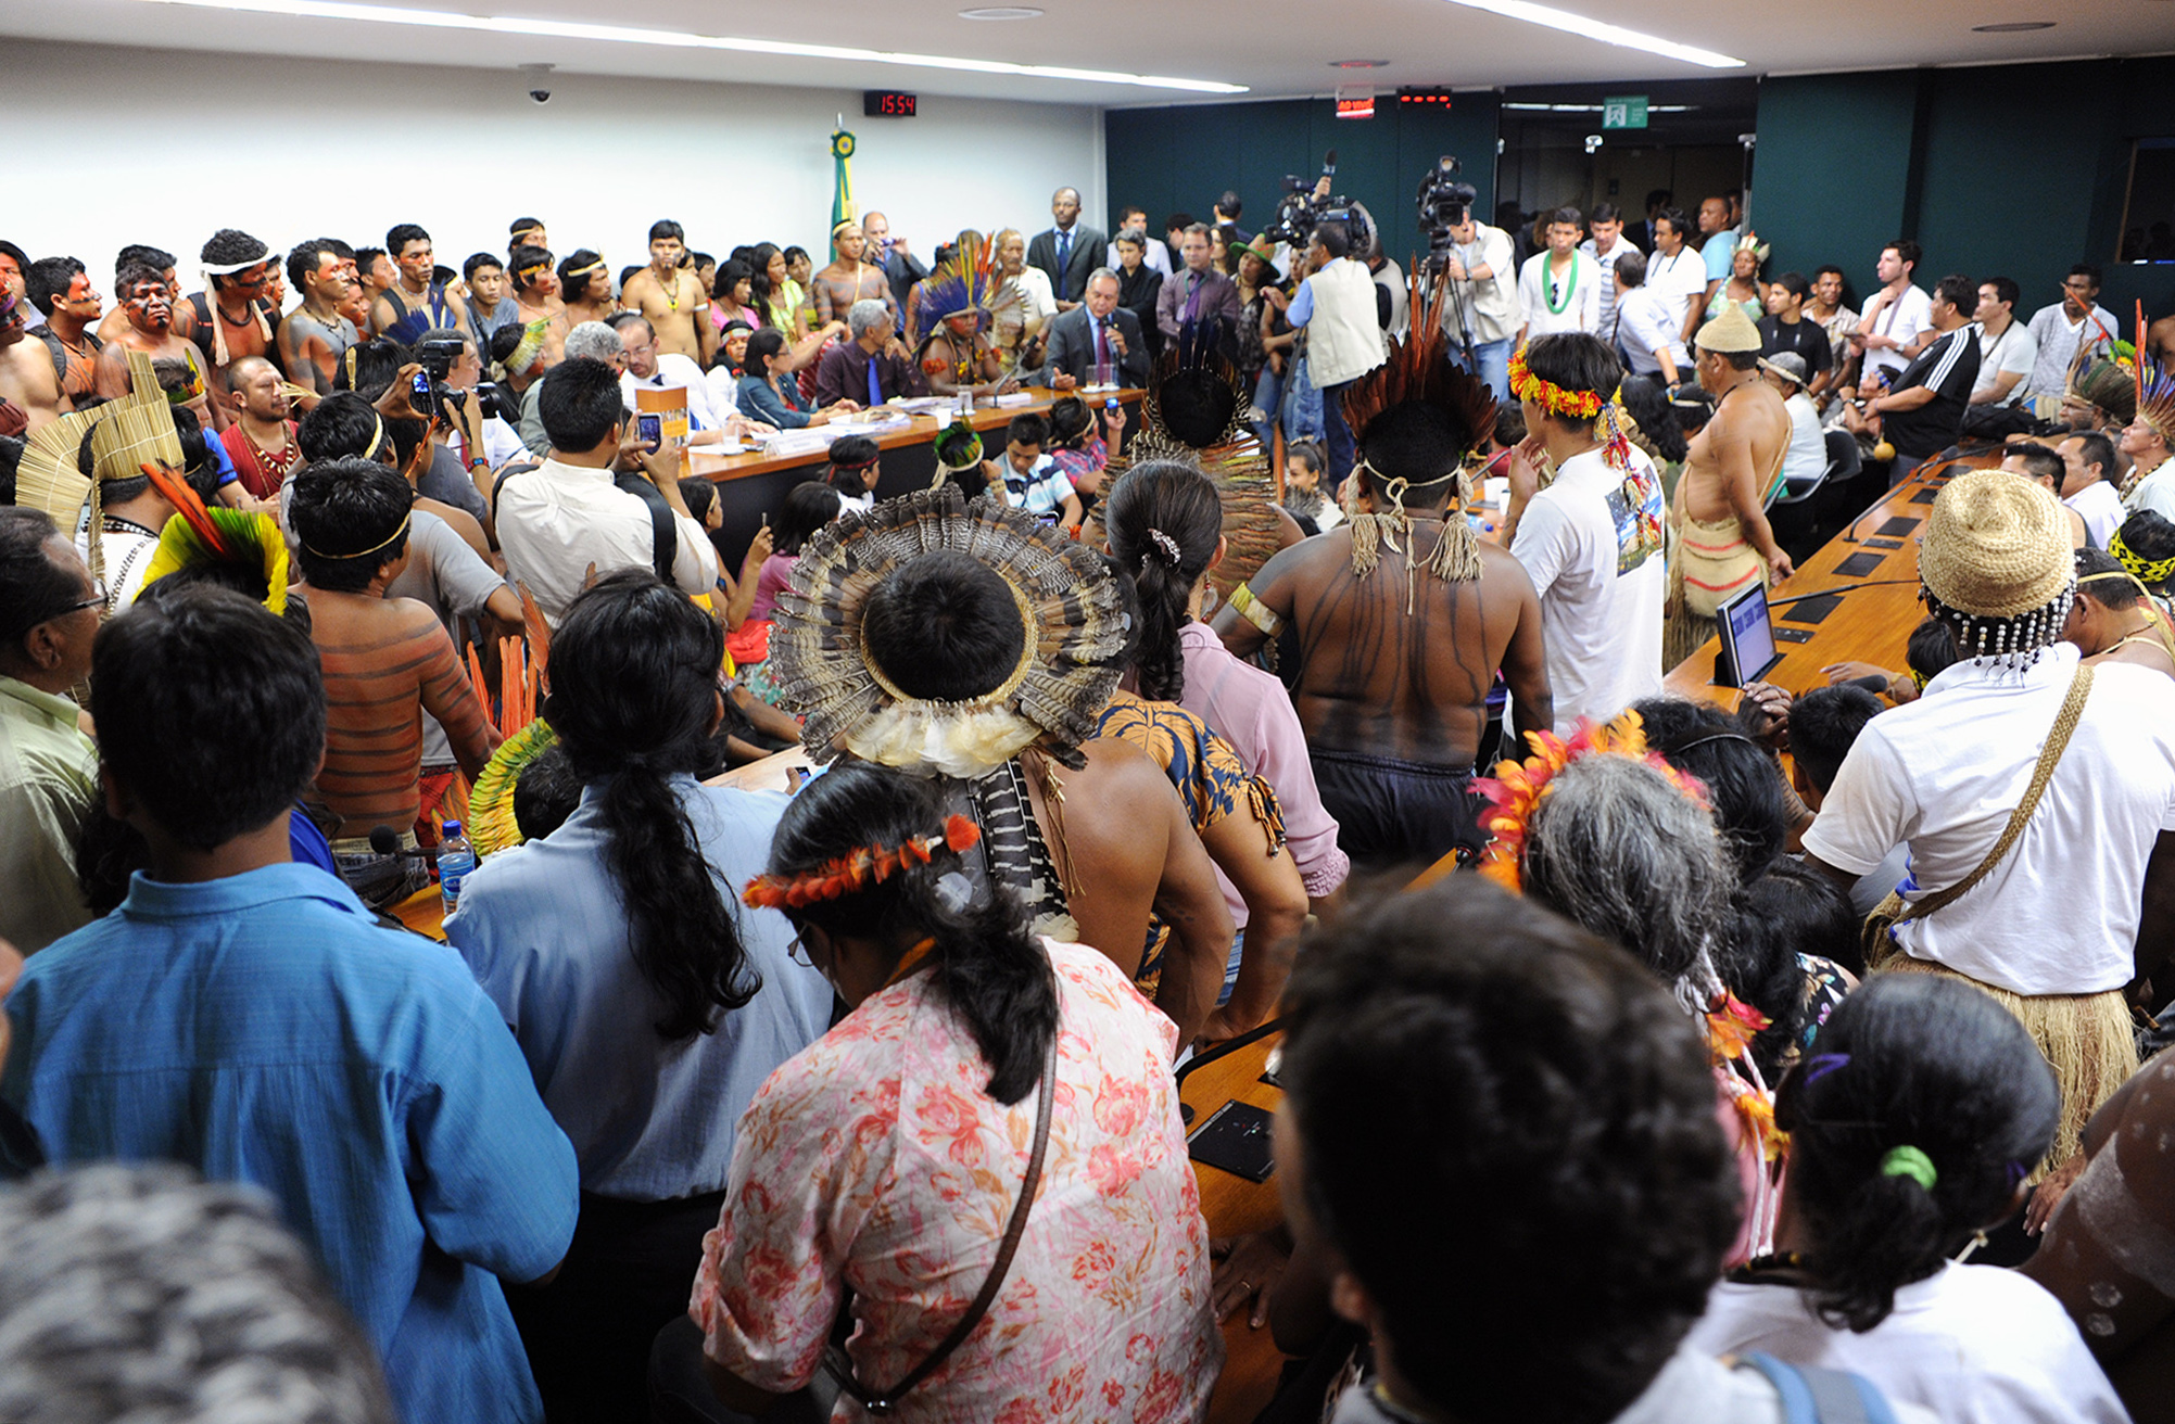
[[[840, 1311], [861, 1394], [887, 1394], [992, 1276], [987, 1315], [900, 1420], [1198, 1420], [1222, 1365], [1207, 1226], [1170, 1076], [1174, 1028], [1098, 950], [1035, 941], [929, 780], [861, 763], [787, 807], [748, 900], [779, 904], [853, 1009], [739, 1122], [689, 1317], [724, 1404], [816, 1378]], [[1055, 1033], [1055, 1054], [1051, 1035]], [[855, 1389], [833, 1420], [866, 1417]]]

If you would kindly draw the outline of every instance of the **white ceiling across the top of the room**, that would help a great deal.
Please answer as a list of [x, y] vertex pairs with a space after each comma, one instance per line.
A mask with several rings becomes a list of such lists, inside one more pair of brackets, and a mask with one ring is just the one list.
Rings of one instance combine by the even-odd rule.
[[[391, 0], [398, 2], [398, 0]], [[2175, 0], [1555, 0], [1662, 39], [1720, 50], [1749, 70], [1703, 70], [1592, 39], [1488, 15], [1449, 0], [1018, 0], [1046, 13], [972, 22], [977, 0], [413, 0], [444, 11], [579, 20], [700, 35], [742, 35], [890, 52], [1170, 74], [1246, 85], [1244, 98], [1327, 93], [1340, 78], [1392, 85], [1529, 85], [1701, 78], [1905, 65], [1997, 63], [2175, 50]], [[1971, 26], [2053, 20], [2025, 35]], [[694, 78], [833, 89], [916, 89], [1072, 104], [1188, 102], [1168, 89], [970, 74], [894, 63], [790, 59], [542, 39], [350, 20], [257, 15], [154, 0], [0, 0], [0, 35], [233, 50], [322, 59], [513, 70], [555, 63], [568, 74]], [[1388, 59], [1342, 74], [1338, 59]]]

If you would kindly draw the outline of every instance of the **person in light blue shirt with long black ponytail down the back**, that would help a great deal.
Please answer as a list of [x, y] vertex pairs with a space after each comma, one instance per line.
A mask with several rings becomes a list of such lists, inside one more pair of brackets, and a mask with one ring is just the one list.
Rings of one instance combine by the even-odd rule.
[[703, 787], [724, 633], [650, 572], [583, 591], [550, 644], [544, 720], [583, 783], [542, 841], [470, 872], [446, 937], [581, 1161], [559, 1278], [511, 1291], [552, 1417], [642, 1417], [648, 1348], [685, 1311], [733, 1122], [831, 1017], [792, 926], [742, 911], [785, 800]]

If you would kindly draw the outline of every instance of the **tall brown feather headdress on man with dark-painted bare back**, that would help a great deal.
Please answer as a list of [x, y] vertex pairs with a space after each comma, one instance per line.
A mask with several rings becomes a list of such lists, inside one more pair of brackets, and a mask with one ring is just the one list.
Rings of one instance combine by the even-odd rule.
[[[1425, 563], [1431, 574], [1446, 583], [1470, 583], [1481, 576], [1479, 535], [1466, 520], [1472, 502], [1472, 476], [1464, 467], [1466, 452], [1494, 430], [1494, 394], [1472, 374], [1451, 365], [1449, 335], [1442, 324], [1442, 302], [1449, 278], [1429, 291], [1427, 278], [1418, 272], [1409, 278], [1412, 324], [1403, 339], [1390, 341], [1390, 357], [1366, 376], [1359, 376], [1344, 391], [1344, 424], [1351, 426], [1353, 446], [1359, 450], [1355, 474], [1368, 474], [1383, 483], [1390, 509], [1353, 515], [1353, 574], [1366, 578], [1381, 563], [1388, 546], [1405, 557], [1405, 611], [1416, 604], [1414, 578]], [[1366, 430], [1381, 415], [1422, 404], [1438, 411], [1455, 441], [1444, 446], [1446, 470], [1429, 478], [1409, 474], [1388, 474], [1366, 459]], [[1435, 550], [1422, 561], [1412, 548], [1412, 520], [1405, 515], [1405, 491], [1429, 489], [1446, 480], [1457, 480], [1457, 504], [1442, 522], [1442, 537]]]

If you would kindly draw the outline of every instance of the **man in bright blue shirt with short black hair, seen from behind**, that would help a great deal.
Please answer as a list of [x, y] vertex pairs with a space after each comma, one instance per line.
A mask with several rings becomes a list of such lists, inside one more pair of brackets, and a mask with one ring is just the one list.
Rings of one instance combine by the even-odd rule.
[[57, 1163], [165, 1159], [270, 1191], [409, 1424], [542, 1420], [500, 1281], [566, 1257], [574, 1150], [459, 954], [289, 861], [324, 757], [309, 637], [176, 589], [100, 630], [91, 678], [107, 807], [152, 870], [24, 970], [0, 1098]]

